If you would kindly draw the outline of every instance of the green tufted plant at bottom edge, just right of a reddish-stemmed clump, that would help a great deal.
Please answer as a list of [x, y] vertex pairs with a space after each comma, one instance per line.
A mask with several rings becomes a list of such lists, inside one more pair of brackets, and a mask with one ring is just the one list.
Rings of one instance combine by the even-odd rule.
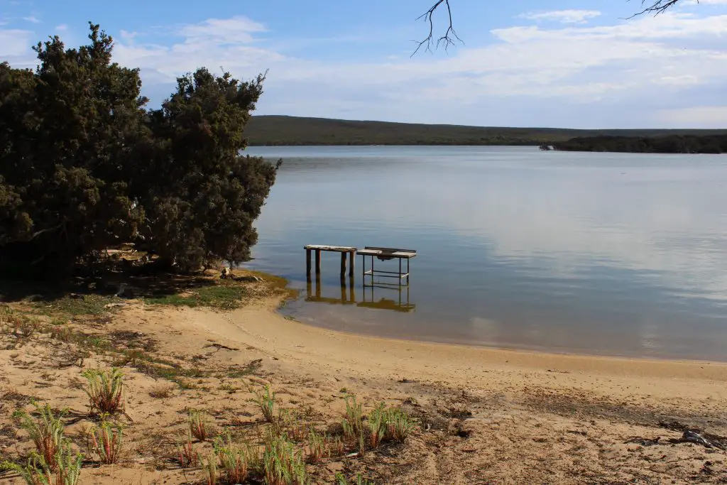
[[308, 484], [302, 452], [286, 436], [270, 431], [265, 436], [262, 470], [268, 485]]

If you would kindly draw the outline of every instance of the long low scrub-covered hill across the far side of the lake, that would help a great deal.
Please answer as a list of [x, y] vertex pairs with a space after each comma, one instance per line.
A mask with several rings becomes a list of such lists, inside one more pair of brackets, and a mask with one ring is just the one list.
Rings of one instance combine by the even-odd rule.
[[250, 145], [540, 145], [574, 137], [723, 134], [727, 129], [466, 127], [296, 116], [253, 116], [245, 129]]

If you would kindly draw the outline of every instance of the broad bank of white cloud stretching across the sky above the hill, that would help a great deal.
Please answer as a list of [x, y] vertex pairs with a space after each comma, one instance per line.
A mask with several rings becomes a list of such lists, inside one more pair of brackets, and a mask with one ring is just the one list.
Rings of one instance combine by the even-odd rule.
[[[591, 11], [586, 11], [591, 12]], [[594, 11], [595, 12], [595, 11]], [[700, 11], [701, 12], [701, 11]], [[561, 17], [574, 19], [576, 17]], [[0, 51], [33, 59], [0, 30]], [[446, 57], [313, 60], [286, 55], [266, 25], [209, 19], [149, 33], [121, 31], [115, 60], [142, 68], [154, 103], [177, 76], [206, 66], [249, 79], [270, 68], [261, 113], [457, 124], [569, 127], [682, 126], [670, 110], [727, 81], [727, 15], [668, 12], [613, 25], [497, 28], [486, 44]], [[27, 33], [26, 33], [27, 34]], [[9, 46], [1, 39], [9, 39]], [[269, 39], [269, 40], [268, 40]], [[301, 51], [305, 52], [305, 51]], [[0, 52], [1, 53], [1, 52]], [[696, 116], [696, 115], [695, 115]], [[718, 117], [707, 123], [720, 126]]]

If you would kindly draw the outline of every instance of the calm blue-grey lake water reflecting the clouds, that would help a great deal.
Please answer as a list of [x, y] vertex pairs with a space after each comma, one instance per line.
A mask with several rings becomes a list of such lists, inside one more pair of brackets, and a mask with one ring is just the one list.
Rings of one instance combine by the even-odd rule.
[[[300, 321], [505, 348], [727, 361], [727, 156], [281, 147], [253, 268]], [[401, 291], [305, 244], [417, 249]], [[367, 262], [369, 264], [369, 262]], [[390, 268], [384, 268], [389, 265]], [[396, 262], [377, 269], [396, 269]]]

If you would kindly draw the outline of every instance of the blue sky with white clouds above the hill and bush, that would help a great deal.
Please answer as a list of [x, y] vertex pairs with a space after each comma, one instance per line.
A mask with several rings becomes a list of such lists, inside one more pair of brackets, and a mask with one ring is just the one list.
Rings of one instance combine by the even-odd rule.
[[[450, 0], [462, 43], [419, 51], [433, 0], [0, 0], [0, 61], [87, 41], [88, 21], [141, 68], [158, 106], [198, 67], [252, 79], [256, 114], [432, 124], [726, 128], [727, 0]], [[448, 25], [434, 18], [435, 35]]]

